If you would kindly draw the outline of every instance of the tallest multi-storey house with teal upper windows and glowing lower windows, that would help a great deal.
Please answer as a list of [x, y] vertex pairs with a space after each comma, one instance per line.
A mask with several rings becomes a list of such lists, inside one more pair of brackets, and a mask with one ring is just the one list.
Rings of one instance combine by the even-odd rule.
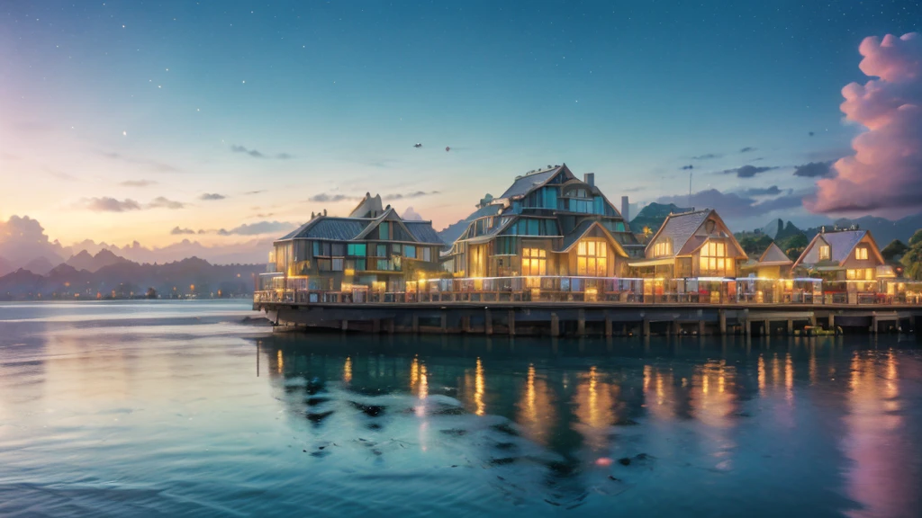
[[621, 277], [643, 251], [595, 174], [579, 180], [566, 164], [516, 177], [466, 221], [443, 254], [456, 277]]

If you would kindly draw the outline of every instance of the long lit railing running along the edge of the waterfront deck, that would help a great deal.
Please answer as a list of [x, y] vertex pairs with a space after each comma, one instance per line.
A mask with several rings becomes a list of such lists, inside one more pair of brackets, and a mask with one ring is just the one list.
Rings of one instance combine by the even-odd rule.
[[[836, 283], [830, 283], [835, 285]], [[922, 293], [855, 289], [823, 292], [821, 279], [783, 281], [701, 277], [650, 279], [619, 277], [491, 277], [408, 281], [401, 290], [352, 285], [344, 290], [276, 288], [258, 290], [254, 302], [599, 302], [684, 304], [920, 305]], [[836, 286], [836, 288], [839, 288]]]

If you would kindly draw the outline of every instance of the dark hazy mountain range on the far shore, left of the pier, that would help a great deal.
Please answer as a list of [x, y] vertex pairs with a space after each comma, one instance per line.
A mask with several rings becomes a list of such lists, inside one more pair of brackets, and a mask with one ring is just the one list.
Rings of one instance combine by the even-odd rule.
[[44, 299], [137, 297], [148, 288], [156, 289], [162, 298], [188, 294], [217, 297], [219, 292], [228, 297], [252, 293], [255, 277], [266, 270], [265, 265], [211, 265], [197, 257], [163, 265], [139, 265], [115, 257], [118, 260], [112, 262], [112, 257], [102, 254], [102, 262], [110, 264], [95, 272], [66, 263], [49, 268], [44, 276], [20, 268], [0, 277], [0, 299], [28, 299], [40, 294]]

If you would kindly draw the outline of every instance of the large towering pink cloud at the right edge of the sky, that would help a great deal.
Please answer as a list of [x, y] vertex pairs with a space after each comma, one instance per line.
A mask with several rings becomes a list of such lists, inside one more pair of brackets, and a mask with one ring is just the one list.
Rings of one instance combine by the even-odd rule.
[[922, 37], [869, 37], [858, 52], [861, 71], [879, 78], [842, 88], [840, 108], [868, 131], [852, 140], [854, 155], [833, 164], [834, 178], [817, 181], [806, 206], [899, 218], [922, 208]]

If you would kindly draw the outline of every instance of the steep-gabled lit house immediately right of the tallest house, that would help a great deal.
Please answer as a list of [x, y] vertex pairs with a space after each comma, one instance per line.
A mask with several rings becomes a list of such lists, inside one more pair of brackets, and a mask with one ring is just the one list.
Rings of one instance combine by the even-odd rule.
[[669, 214], [646, 245], [645, 259], [631, 263], [641, 277], [736, 277], [746, 261], [733, 232], [713, 209]]

